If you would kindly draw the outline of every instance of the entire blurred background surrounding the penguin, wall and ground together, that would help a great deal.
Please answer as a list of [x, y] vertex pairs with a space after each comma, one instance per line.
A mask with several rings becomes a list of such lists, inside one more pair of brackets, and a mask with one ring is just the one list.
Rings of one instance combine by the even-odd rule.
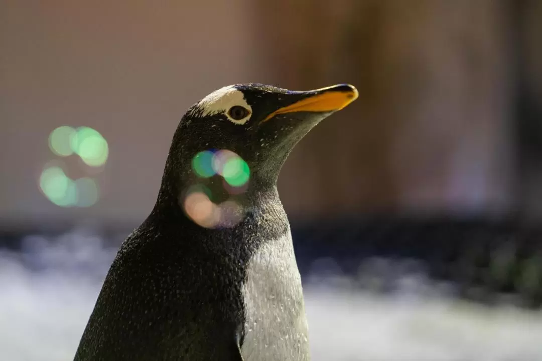
[[313, 359], [542, 360], [542, 2], [0, 2], [0, 358], [70, 360], [173, 131], [357, 86], [279, 193]]

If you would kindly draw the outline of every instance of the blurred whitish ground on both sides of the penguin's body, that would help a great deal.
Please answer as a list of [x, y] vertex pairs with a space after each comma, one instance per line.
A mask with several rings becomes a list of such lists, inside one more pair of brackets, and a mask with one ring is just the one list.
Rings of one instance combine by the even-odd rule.
[[[85, 233], [55, 241], [29, 237], [22, 255], [0, 252], [2, 361], [73, 359], [116, 249]], [[541, 312], [459, 302], [419, 272], [378, 295], [354, 285], [377, 287], [385, 260], [355, 280], [332, 263], [305, 280], [314, 361], [542, 360]]]

